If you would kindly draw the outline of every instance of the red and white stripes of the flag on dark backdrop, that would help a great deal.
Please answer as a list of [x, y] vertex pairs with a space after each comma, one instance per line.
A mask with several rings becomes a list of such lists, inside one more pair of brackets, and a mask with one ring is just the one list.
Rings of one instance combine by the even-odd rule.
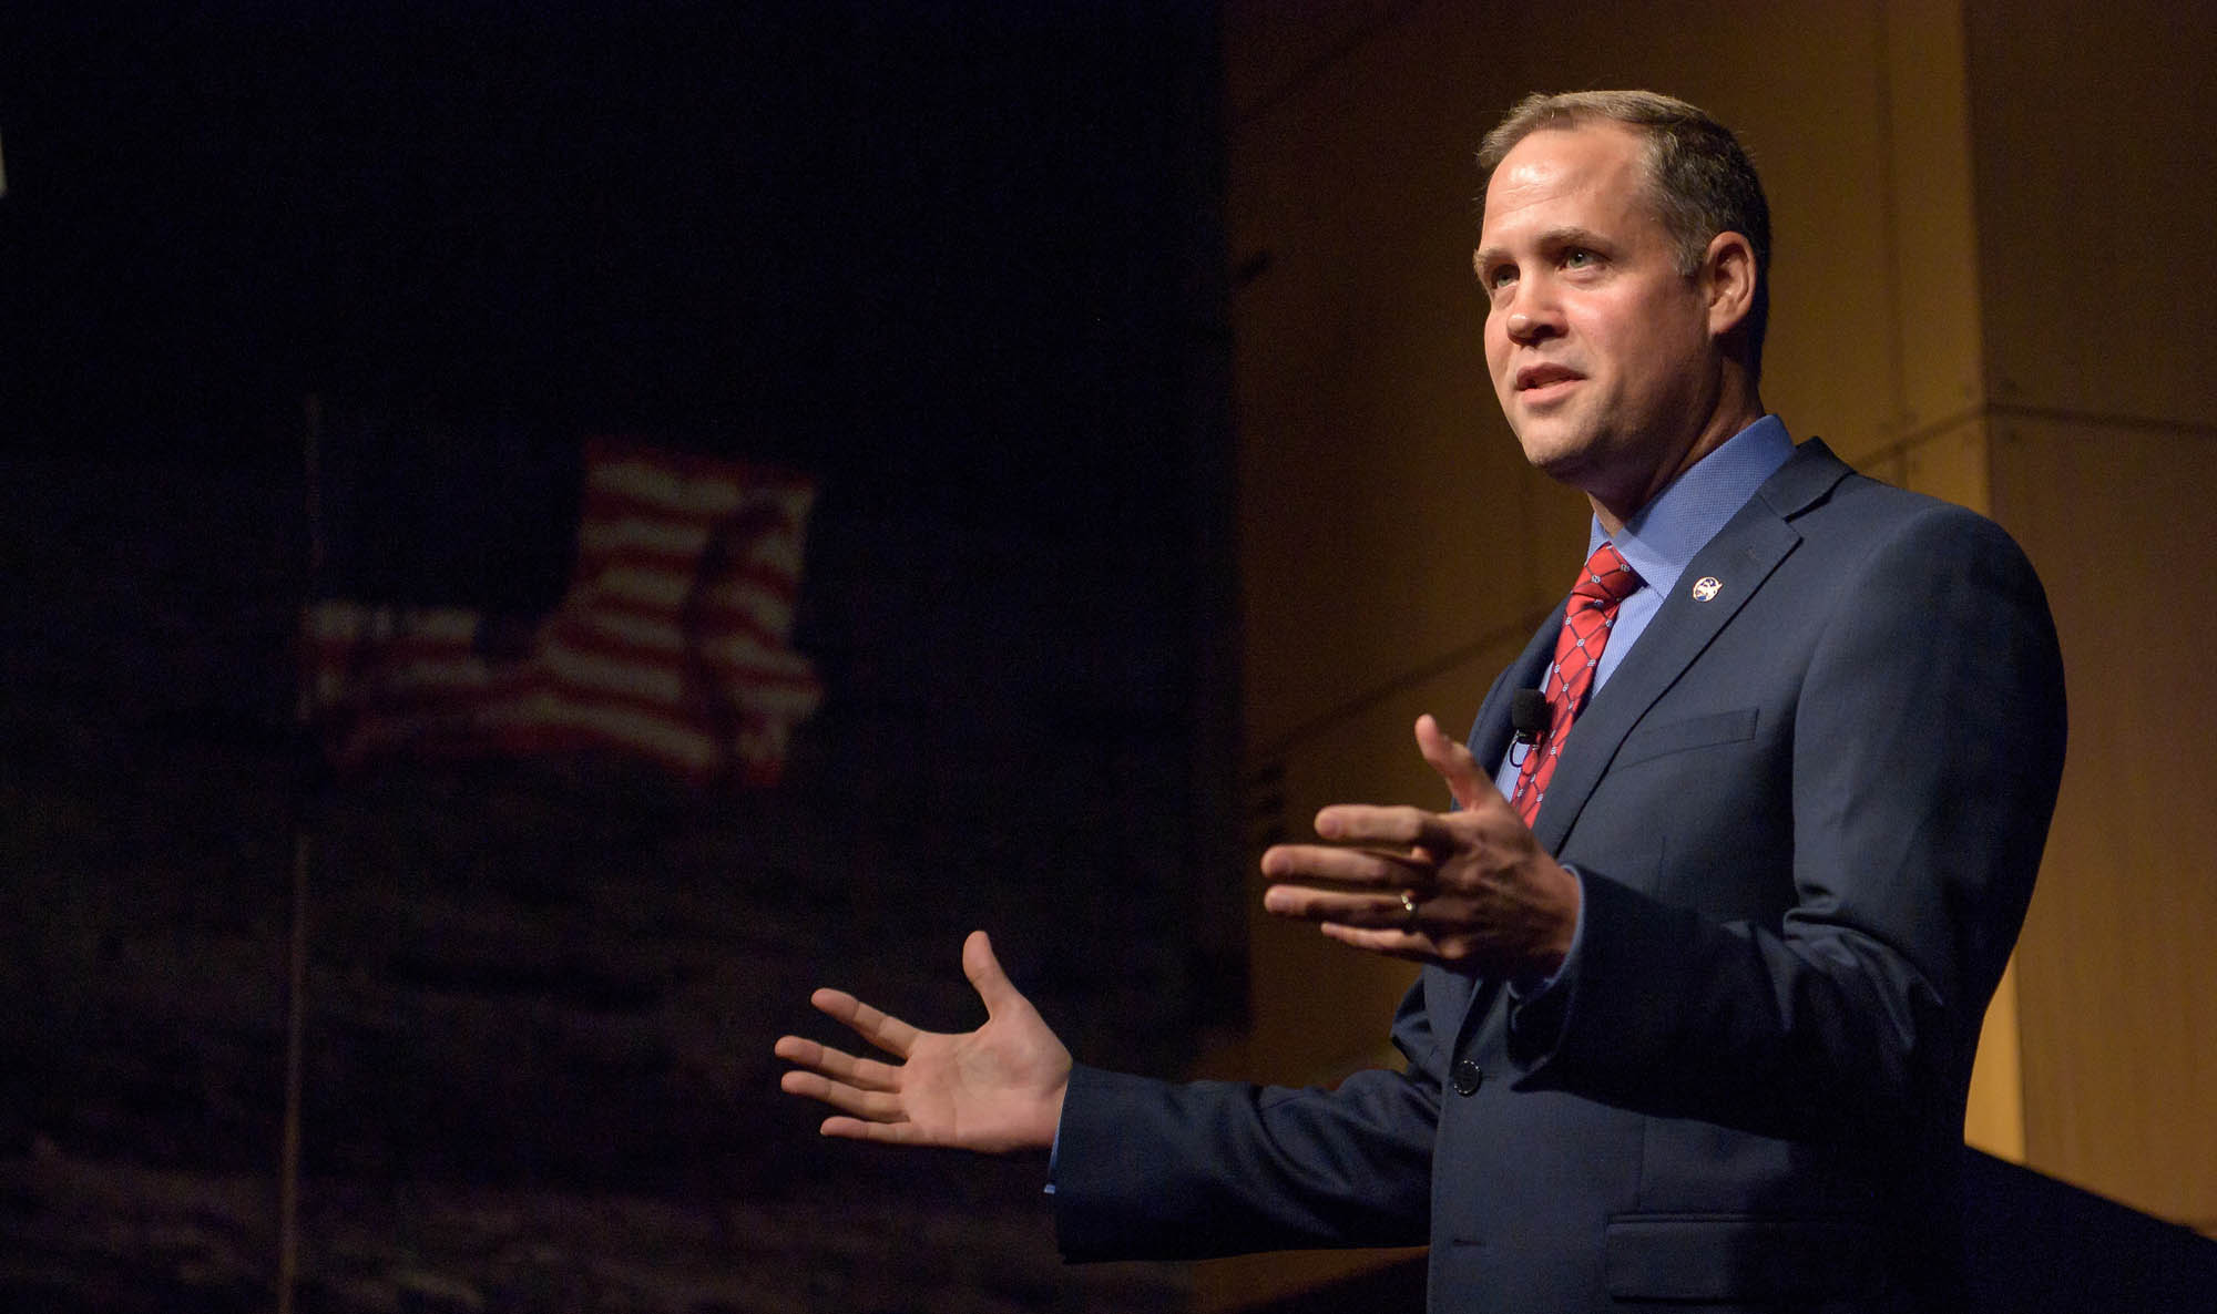
[[315, 603], [304, 707], [330, 756], [616, 751], [687, 780], [778, 778], [823, 687], [791, 649], [814, 487], [594, 441], [576, 567], [525, 651], [461, 607]]

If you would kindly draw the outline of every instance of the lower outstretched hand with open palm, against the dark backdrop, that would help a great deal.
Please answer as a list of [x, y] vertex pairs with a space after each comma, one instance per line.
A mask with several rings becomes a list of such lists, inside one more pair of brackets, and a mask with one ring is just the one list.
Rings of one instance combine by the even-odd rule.
[[987, 1152], [1053, 1146], [1071, 1053], [1000, 971], [984, 931], [962, 942], [962, 973], [987, 1010], [984, 1026], [962, 1035], [918, 1030], [845, 990], [816, 990], [809, 1004], [900, 1061], [787, 1035], [776, 1055], [794, 1070], [778, 1086], [842, 1110], [825, 1119], [827, 1137]]

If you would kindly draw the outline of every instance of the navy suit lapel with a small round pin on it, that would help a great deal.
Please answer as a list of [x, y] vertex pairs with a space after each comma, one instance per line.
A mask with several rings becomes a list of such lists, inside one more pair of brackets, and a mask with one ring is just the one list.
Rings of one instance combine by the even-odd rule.
[[[1800, 543], [1789, 523], [1825, 496], [1849, 468], [1822, 441], [1802, 443], [1778, 468], [1756, 496], [1712, 538], [1687, 565], [1663, 609], [1641, 634], [1610, 682], [1579, 714], [1563, 760], [1547, 784], [1532, 835], [1547, 853], [1556, 853], [1592, 798], [1616, 749], [1632, 727], [1647, 716], [1663, 694], [1678, 682], [1694, 658], [1740, 614], [1740, 607], [1769, 581], [1778, 563]], [[1696, 598], [1694, 585], [1716, 581], [1709, 598]], [[1703, 589], [1707, 592], [1707, 589]]]

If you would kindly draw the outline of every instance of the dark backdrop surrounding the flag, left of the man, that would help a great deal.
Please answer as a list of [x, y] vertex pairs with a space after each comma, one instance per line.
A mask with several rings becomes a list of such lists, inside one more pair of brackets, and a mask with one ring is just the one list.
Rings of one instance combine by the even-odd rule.
[[[299, 835], [302, 1307], [1175, 1307], [1055, 1265], [1040, 1163], [820, 1143], [767, 1050], [823, 982], [973, 1022], [971, 926], [1089, 1059], [1237, 1024], [1215, 42], [0, 18], [9, 1307], [268, 1307]], [[299, 600], [545, 607], [588, 434], [818, 481], [785, 782], [304, 769]]]

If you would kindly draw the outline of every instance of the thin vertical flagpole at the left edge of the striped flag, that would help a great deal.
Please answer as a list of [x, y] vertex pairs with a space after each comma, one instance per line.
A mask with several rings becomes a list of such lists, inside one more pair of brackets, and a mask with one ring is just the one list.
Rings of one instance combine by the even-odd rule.
[[[324, 401], [310, 392], [302, 403], [302, 472], [308, 519], [308, 587], [302, 616], [324, 581]], [[284, 1132], [277, 1148], [277, 1314], [293, 1314], [299, 1285], [299, 1103], [308, 1041], [308, 866], [315, 860], [315, 829], [308, 811], [317, 804], [310, 780], [315, 762], [315, 698], [299, 689], [295, 709], [297, 753], [293, 782], [293, 913], [286, 942], [284, 1017]]]

